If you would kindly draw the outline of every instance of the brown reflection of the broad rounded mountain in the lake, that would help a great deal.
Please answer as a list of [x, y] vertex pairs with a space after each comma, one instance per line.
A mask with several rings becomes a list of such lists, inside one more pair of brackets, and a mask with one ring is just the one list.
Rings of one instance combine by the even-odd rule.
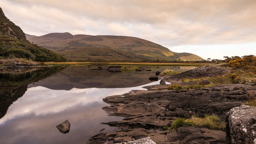
[[54, 77], [49, 77], [28, 87], [44, 86], [56, 90], [71, 90], [72, 88], [127, 88], [150, 83], [149, 76], [169, 71], [187, 71], [195, 67], [142, 67], [152, 71], [129, 71], [111, 73], [106, 71], [107, 65], [101, 65], [103, 70], [97, 70], [99, 65], [67, 67]]

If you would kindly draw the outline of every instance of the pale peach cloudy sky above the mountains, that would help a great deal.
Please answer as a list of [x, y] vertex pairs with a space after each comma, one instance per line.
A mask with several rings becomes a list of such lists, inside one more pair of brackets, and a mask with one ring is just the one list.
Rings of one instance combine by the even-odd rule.
[[0, 0], [30, 35], [134, 36], [204, 59], [256, 55], [255, 0]]

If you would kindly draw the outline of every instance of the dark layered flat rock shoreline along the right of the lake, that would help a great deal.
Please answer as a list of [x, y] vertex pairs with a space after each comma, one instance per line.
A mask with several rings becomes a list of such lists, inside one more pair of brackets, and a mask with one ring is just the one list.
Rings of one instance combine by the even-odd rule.
[[[164, 81], [181, 84], [183, 78], [202, 78], [222, 76], [230, 71], [218, 66], [195, 68], [174, 76], [162, 76]], [[190, 84], [190, 83], [187, 83]], [[184, 83], [183, 83], [184, 85]], [[162, 91], [157, 91], [157, 88]], [[123, 95], [103, 99], [110, 106], [102, 108], [111, 116], [124, 117], [122, 121], [102, 124], [117, 127], [113, 132], [99, 133], [87, 143], [121, 143], [150, 137], [155, 143], [226, 143], [226, 132], [207, 128], [178, 127], [168, 132], [178, 117], [203, 117], [205, 114], [217, 115], [224, 122], [231, 108], [241, 106], [250, 91], [256, 91], [254, 84], [217, 85], [197, 90], [166, 90], [168, 85], [144, 87], [151, 91], [132, 91]]]

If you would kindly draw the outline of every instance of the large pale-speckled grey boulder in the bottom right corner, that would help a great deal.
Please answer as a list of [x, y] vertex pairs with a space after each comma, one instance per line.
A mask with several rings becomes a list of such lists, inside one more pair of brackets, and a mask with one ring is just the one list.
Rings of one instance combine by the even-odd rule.
[[256, 143], [256, 107], [241, 105], [226, 114], [226, 144]]

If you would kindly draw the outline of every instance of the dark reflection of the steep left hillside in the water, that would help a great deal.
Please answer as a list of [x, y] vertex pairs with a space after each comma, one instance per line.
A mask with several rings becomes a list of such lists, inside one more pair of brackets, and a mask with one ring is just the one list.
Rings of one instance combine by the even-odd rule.
[[0, 118], [14, 101], [23, 96], [29, 83], [47, 78], [63, 69], [57, 67], [23, 73], [0, 73]]

